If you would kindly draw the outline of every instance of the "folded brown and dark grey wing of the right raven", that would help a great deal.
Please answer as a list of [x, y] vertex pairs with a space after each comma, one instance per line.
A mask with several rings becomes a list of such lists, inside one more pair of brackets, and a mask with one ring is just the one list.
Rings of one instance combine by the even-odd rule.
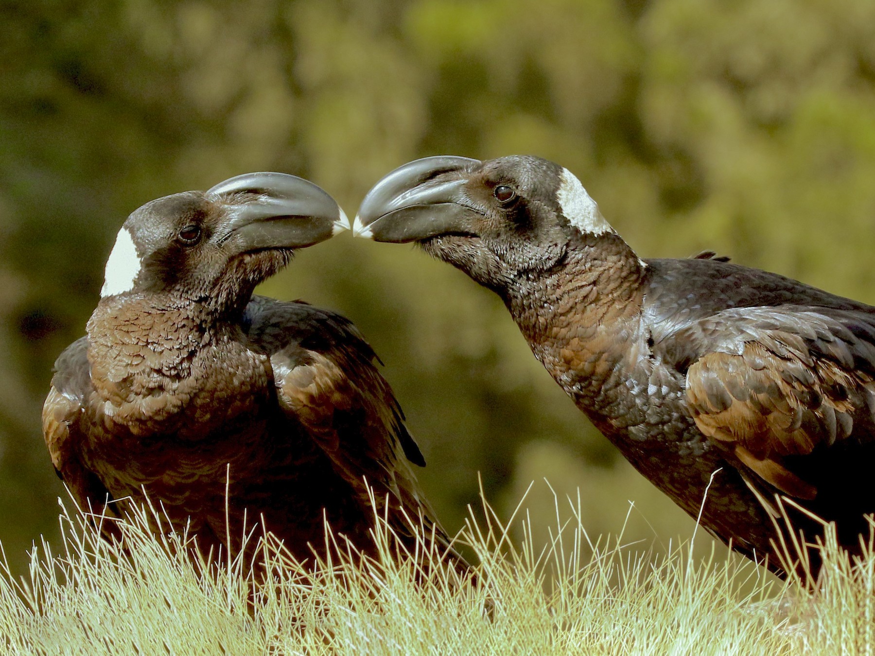
[[[875, 340], [868, 323], [875, 318], [823, 312], [736, 309], [673, 336], [704, 352], [687, 370], [697, 427], [762, 481], [798, 499], [814, 499], [816, 487], [791, 471], [788, 458], [875, 421], [875, 345], [867, 341]], [[721, 318], [724, 330], [716, 331]]]

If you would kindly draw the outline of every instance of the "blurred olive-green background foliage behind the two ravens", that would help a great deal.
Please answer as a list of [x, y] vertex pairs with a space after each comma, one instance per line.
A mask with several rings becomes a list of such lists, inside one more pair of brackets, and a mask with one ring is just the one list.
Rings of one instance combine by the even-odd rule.
[[[286, 171], [352, 216], [409, 159], [531, 153], [642, 256], [711, 248], [875, 303], [872, 0], [7, 0], [0, 55], [0, 540], [18, 571], [64, 494], [39, 430], [52, 361], [118, 227], [158, 196]], [[451, 530], [479, 471], [504, 516], [536, 481], [536, 540], [544, 477], [580, 488], [592, 534], [629, 500], [627, 541], [692, 534], [451, 267], [343, 234], [262, 292], [360, 326]]]

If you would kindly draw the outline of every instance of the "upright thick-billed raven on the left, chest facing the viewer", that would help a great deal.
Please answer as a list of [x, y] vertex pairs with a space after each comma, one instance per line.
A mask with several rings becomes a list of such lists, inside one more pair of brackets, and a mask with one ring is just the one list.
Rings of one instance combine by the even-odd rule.
[[262, 522], [298, 559], [324, 555], [324, 520], [368, 552], [384, 513], [403, 540], [421, 521], [449, 547], [411, 467], [423, 456], [359, 331], [253, 296], [296, 248], [346, 227], [318, 186], [270, 172], [130, 215], [43, 409], [52, 463], [81, 506], [122, 515], [145, 493], [205, 555], [239, 552]]

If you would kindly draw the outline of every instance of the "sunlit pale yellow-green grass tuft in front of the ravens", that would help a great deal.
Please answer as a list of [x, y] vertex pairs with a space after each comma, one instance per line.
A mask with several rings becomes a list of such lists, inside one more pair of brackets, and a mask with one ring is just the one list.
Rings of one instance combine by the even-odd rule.
[[[186, 535], [151, 534], [144, 508], [120, 524], [121, 544], [65, 510], [59, 553], [43, 542], [30, 576], [0, 576], [0, 643], [9, 653], [869, 653], [875, 557], [851, 564], [831, 541], [816, 591], [777, 583], [745, 559], [658, 555], [591, 540], [556, 513], [543, 548], [528, 518], [501, 522], [484, 505], [460, 540], [475, 576], [441, 566], [428, 536], [399, 558], [388, 528], [380, 558], [342, 539], [327, 562], [302, 565], [262, 541], [270, 575], [241, 559], [192, 562]], [[563, 504], [564, 505], [564, 504]], [[473, 514], [472, 514], [473, 516]], [[166, 526], [166, 522], [163, 522]], [[521, 527], [519, 544], [510, 528]], [[254, 539], [254, 538], [253, 538]], [[590, 555], [592, 552], [592, 555]], [[418, 564], [416, 564], [418, 563]], [[263, 572], [263, 570], [261, 570]], [[256, 583], [260, 582], [260, 583]]]

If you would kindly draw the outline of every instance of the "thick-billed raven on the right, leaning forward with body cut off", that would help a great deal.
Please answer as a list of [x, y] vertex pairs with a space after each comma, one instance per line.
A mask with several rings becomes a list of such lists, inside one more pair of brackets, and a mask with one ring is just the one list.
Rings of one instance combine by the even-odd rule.
[[816, 550], [791, 564], [779, 546], [785, 519], [823, 534], [814, 514], [860, 553], [875, 512], [875, 308], [711, 253], [642, 260], [539, 157], [410, 162], [368, 192], [353, 229], [416, 241], [498, 293], [577, 407], [733, 549], [816, 576]]

